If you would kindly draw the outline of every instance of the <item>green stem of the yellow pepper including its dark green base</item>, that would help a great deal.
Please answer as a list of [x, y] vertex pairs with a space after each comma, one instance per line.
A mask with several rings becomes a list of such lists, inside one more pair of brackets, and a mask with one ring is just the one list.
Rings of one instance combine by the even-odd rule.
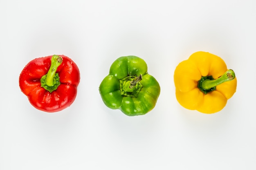
[[222, 84], [224, 82], [229, 82], [233, 80], [236, 77], [235, 73], [233, 70], [229, 69], [226, 71], [222, 76], [220, 76], [218, 79], [213, 79], [213, 77], [210, 76], [205, 76], [202, 77], [198, 81], [198, 88], [204, 92], [204, 94], [209, 93], [210, 91], [216, 90], [216, 86], [219, 84]]

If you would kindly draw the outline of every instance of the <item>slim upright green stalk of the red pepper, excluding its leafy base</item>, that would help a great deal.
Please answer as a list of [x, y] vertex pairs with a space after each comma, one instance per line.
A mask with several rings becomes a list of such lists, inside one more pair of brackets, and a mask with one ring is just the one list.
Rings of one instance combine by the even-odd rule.
[[46, 75], [45, 83], [47, 86], [54, 86], [54, 76], [58, 66], [62, 63], [62, 58], [58, 55], [53, 55], [51, 60], [51, 67]]

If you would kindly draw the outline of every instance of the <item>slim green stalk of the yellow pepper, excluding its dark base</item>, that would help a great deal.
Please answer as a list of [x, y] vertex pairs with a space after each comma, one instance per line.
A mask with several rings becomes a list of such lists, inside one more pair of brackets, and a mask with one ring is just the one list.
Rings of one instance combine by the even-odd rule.
[[208, 89], [218, 86], [219, 84], [222, 84], [224, 82], [229, 82], [229, 81], [233, 80], [235, 77], [236, 77], [236, 75], [235, 75], [234, 71], [229, 69], [218, 79], [213, 79], [213, 80], [205, 79], [202, 82], [202, 88], [205, 90], [208, 90]]

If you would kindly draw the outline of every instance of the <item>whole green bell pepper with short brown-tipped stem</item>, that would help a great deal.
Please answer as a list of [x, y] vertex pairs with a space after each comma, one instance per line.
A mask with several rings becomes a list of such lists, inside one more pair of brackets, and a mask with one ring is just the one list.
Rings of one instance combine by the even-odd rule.
[[152, 110], [160, 94], [157, 80], [148, 74], [146, 62], [136, 56], [119, 57], [99, 86], [104, 104], [128, 116]]

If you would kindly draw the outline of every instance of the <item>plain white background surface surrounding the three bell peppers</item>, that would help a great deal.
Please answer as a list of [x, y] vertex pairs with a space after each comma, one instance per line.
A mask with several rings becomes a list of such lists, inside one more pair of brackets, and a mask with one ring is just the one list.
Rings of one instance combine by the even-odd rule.
[[[255, 0], [0, 0], [0, 170], [255, 170]], [[235, 71], [218, 113], [177, 103], [173, 73], [196, 51]], [[18, 78], [36, 57], [79, 66], [75, 102], [36, 110]], [[118, 57], [136, 55], [161, 86], [155, 108], [107, 108], [99, 84]]]

